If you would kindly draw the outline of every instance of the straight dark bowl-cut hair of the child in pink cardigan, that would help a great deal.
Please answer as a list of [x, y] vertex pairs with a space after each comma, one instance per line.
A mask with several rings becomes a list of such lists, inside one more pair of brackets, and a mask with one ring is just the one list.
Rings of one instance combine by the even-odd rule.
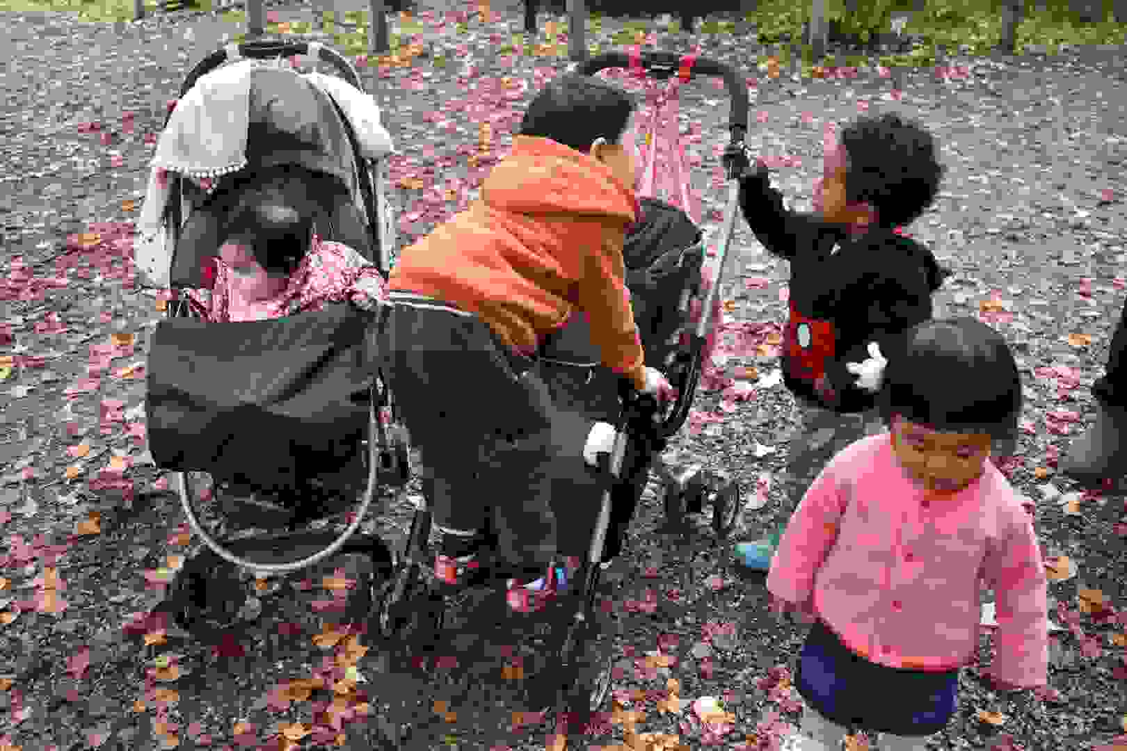
[[924, 321], [886, 355], [878, 399], [891, 427], [899, 414], [934, 430], [1017, 437], [1021, 376], [1005, 339], [971, 318]]

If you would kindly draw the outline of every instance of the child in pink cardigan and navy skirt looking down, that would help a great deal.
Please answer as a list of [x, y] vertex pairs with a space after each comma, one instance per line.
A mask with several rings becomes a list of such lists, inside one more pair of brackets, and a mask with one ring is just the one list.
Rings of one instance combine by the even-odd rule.
[[850, 369], [879, 394], [890, 432], [826, 465], [767, 575], [773, 609], [815, 620], [796, 681], [805, 751], [838, 748], [850, 727], [881, 733], [882, 751], [923, 751], [977, 652], [984, 582], [997, 598], [994, 685], [1047, 683], [1037, 534], [987, 461], [1021, 411], [1013, 356], [974, 319], [920, 323], [895, 347]]

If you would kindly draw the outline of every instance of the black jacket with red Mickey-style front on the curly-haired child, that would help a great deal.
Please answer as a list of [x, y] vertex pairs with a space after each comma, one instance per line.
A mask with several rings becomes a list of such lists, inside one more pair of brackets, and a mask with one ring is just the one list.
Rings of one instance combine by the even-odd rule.
[[903, 333], [931, 319], [931, 295], [950, 271], [889, 229], [854, 240], [845, 226], [787, 211], [765, 171], [744, 179], [739, 205], [767, 251], [790, 261], [783, 383], [796, 397], [836, 412], [875, 406], [876, 396], [857, 387], [845, 364], [868, 359], [870, 341], [891, 359]]

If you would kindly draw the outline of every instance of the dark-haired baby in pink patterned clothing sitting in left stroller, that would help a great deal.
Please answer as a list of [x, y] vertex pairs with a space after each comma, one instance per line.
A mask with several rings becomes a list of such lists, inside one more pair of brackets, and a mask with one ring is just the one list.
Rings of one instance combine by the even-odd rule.
[[322, 211], [310, 194], [320, 179], [286, 166], [240, 188], [205, 270], [211, 286], [187, 290], [204, 320], [263, 321], [341, 302], [374, 311], [387, 299], [372, 261], [317, 232]]

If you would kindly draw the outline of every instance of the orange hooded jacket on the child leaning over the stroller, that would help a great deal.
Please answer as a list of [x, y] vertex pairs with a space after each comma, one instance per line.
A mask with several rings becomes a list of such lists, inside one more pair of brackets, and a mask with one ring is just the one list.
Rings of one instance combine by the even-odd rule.
[[476, 313], [506, 345], [535, 351], [585, 311], [603, 363], [640, 390], [646, 369], [624, 283], [633, 190], [602, 162], [517, 135], [468, 209], [403, 249], [389, 289]]

